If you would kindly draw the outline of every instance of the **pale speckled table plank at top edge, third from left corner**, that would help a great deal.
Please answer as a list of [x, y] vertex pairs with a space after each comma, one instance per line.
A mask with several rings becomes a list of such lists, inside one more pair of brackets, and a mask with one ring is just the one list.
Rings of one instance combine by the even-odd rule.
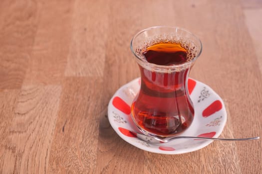
[[103, 76], [109, 18], [107, 5], [104, 3], [103, 0], [74, 2], [73, 36], [67, 58], [66, 76]]

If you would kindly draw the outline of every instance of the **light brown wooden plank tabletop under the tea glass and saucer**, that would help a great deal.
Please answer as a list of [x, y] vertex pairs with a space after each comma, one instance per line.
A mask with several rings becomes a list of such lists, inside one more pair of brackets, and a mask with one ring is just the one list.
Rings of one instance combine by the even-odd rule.
[[261, 0], [1, 0], [0, 173], [261, 174], [261, 140], [161, 155], [122, 140], [107, 118], [139, 77], [131, 38], [155, 25], [203, 43], [191, 78], [224, 100], [220, 137], [262, 136]]

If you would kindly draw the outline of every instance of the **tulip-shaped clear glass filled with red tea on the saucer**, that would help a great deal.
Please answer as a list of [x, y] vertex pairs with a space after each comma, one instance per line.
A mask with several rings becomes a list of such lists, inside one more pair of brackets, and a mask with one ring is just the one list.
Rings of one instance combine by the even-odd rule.
[[[139, 42], [136, 39], [140, 43], [134, 43]], [[131, 42], [132, 51], [134, 46], [141, 73], [141, 88], [131, 106], [135, 124], [151, 136], [182, 133], [194, 118], [187, 83], [201, 53], [200, 40], [184, 29], [153, 27], [138, 33]]]

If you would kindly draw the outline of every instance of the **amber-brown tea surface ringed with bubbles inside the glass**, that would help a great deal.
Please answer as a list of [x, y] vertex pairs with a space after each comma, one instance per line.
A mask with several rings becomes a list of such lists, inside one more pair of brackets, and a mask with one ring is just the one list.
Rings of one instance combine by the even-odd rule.
[[[150, 52], [155, 52], [153, 55], [157, 55], [156, 52], [158, 52], [159, 58], [153, 58], [154, 60], [148, 58], [151, 57], [149, 56]], [[156, 72], [171, 73], [189, 68], [191, 65], [188, 65], [187, 62], [192, 61], [197, 56], [198, 48], [192, 41], [189, 42], [174, 34], [164, 34], [150, 37], [143, 43], [140, 43], [136, 47], [135, 53], [141, 60], [138, 63], [144, 68]], [[148, 63], [156, 66], [148, 65]], [[184, 63], [185, 65], [183, 65]], [[158, 65], [170, 67], [160, 68]]]

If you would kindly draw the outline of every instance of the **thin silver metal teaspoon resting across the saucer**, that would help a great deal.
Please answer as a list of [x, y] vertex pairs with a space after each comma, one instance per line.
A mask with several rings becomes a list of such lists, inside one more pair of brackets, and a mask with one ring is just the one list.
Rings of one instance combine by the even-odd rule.
[[222, 140], [222, 141], [244, 141], [244, 140], [257, 140], [260, 139], [260, 137], [251, 137], [251, 138], [208, 138], [208, 137], [190, 137], [190, 136], [178, 136], [178, 137], [173, 137], [170, 139], [158, 139], [161, 142], [170, 142], [175, 139], [180, 139], [180, 138], [187, 138], [187, 139], [198, 139], [198, 140]]

